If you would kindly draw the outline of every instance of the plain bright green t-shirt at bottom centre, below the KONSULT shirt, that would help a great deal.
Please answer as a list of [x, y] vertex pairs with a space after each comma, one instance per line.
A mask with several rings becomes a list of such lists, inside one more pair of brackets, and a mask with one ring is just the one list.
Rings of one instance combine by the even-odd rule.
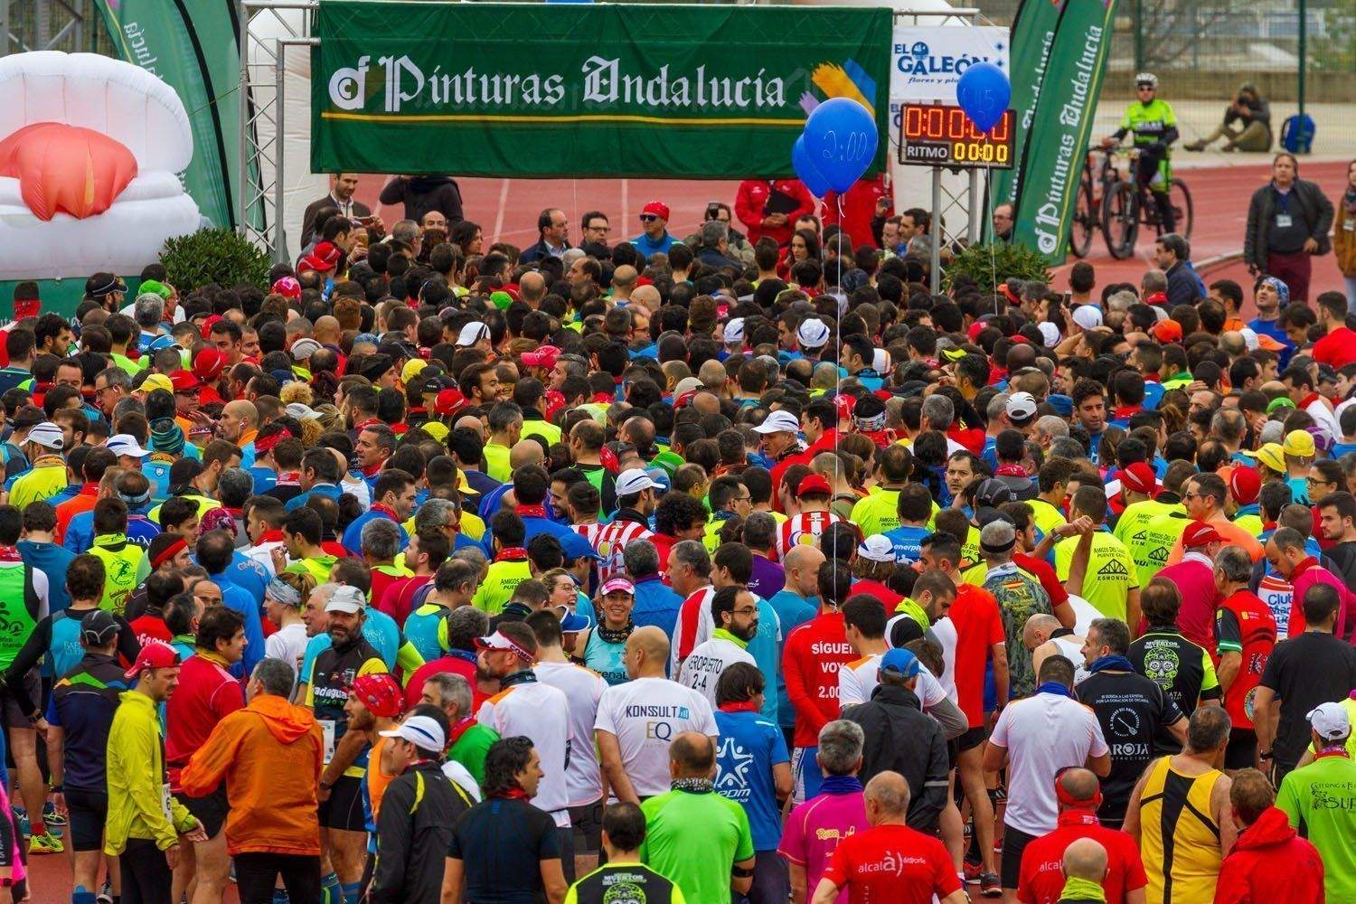
[[730, 869], [754, 855], [744, 808], [715, 792], [669, 792], [640, 809], [645, 813], [641, 862], [677, 882], [689, 901], [728, 901]]

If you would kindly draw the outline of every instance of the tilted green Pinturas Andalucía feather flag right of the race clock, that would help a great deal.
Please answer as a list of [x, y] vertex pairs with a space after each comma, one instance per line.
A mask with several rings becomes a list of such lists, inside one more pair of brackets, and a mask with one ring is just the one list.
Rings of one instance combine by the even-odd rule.
[[1067, 0], [1025, 137], [1013, 243], [1064, 263], [1069, 221], [1111, 53], [1116, 0]]

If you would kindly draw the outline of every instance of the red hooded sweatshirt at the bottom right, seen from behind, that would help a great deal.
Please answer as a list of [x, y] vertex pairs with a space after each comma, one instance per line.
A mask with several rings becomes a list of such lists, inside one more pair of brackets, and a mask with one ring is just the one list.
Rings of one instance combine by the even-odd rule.
[[1219, 869], [1215, 904], [1323, 900], [1323, 862], [1318, 850], [1296, 838], [1285, 813], [1268, 808], [1243, 829]]

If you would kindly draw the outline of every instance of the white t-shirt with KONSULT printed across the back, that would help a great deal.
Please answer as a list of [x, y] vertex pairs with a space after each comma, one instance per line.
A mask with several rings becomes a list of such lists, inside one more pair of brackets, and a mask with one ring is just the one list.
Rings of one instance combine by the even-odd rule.
[[605, 690], [594, 728], [617, 737], [621, 766], [640, 797], [670, 790], [673, 739], [682, 732], [720, 736], [706, 698], [667, 678], [637, 678]]

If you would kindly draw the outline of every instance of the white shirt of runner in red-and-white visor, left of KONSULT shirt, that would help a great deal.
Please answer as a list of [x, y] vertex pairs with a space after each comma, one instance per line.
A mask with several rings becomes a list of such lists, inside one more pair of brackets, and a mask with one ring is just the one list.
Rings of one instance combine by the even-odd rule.
[[545, 773], [532, 805], [551, 813], [560, 828], [567, 828], [570, 792], [565, 775], [572, 736], [565, 693], [542, 682], [511, 684], [481, 703], [476, 720], [499, 732], [499, 737], [523, 735], [532, 739]]

